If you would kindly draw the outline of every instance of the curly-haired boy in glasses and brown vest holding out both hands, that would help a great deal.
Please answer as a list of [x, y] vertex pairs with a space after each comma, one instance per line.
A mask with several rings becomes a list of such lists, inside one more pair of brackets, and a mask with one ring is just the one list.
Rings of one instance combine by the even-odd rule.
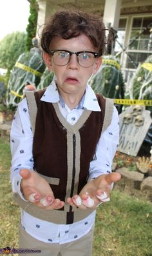
[[55, 79], [35, 92], [36, 123], [25, 98], [11, 131], [12, 188], [22, 208], [19, 248], [44, 256], [91, 255], [95, 209], [109, 201], [120, 179], [111, 173], [117, 110], [87, 84], [104, 44], [105, 28], [95, 15], [61, 11], [44, 26], [43, 59]]

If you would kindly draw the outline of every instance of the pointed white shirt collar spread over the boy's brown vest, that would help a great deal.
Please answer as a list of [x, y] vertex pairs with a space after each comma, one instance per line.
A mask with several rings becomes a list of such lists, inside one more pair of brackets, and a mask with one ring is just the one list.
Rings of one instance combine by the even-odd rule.
[[[52, 81], [52, 83], [46, 88], [43, 97], [41, 97], [41, 101], [45, 101], [47, 103], [64, 103], [62, 98], [60, 98], [55, 81]], [[87, 110], [91, 111], [101, 111], [97, 97], [89, 84], [86, 85], [86, 93], [82, 97], [77, 108], [86, 108]]]

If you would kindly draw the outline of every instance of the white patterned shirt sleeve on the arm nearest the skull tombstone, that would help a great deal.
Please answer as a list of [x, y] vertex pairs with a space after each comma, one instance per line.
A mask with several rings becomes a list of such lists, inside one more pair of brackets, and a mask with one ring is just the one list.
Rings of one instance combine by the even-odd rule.
[[111, 124], [102, 133], [97, 144], [95, 155], [90, 162], [88, 181], [97, 178], [99, 175], [111, 173], [113, 157], [119, 145], [119, 114], [117, 108], [113, 107]]

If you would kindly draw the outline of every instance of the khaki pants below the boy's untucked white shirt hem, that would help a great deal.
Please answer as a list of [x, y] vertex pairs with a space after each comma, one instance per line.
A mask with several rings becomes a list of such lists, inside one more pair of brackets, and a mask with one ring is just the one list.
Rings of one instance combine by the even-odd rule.
[[19, 256], [91, 256], [94, 226], [88, 234], [74, 242], [49, 244], [29, 235], [19, 224], [19, 248], [41, 250], [41, 253], [19, 253]]

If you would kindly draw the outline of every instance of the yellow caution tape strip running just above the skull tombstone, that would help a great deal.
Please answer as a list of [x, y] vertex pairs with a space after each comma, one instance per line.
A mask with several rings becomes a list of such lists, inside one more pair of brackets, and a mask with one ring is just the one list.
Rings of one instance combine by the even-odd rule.
[[152, 106], [151, 99], [113, 99], [116, 104]]

